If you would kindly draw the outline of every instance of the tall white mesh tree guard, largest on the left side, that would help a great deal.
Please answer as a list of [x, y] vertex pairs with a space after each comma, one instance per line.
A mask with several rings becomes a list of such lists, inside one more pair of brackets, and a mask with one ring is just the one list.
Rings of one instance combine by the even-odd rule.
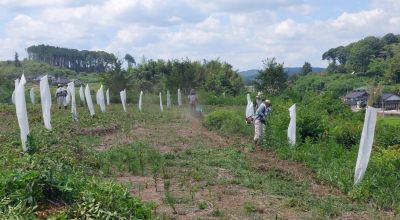
[[25, 102], [25, 76], [22, 74], [21, 81], [15, 90], [15, 109], [17, 113], [18, 125], [21, 131], [22, 149], [27, 151], [27, 141], [29, 135], [28, 113], [26, 112]]

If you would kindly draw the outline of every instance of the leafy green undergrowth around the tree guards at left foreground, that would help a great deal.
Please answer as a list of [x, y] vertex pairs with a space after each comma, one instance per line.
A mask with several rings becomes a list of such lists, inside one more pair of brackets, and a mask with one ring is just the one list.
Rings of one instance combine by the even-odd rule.
[[[14, 117], [8, 117], [0, 135], [0, 214], [2, 218], [56, 217], [137, 218], [151, 217], [151, 206], [131, 197], [129, 190], [105, 177], [121, 172], [143, 175], [159, 157], [147, 145], [133, 143], [107, 152], [93, 149], [85, 128], [100, 129], [115, 116], [90, 118], [81, 111], [80, 122], [72, 122], [67, 111], [55, 112], [53, 131], [45, 131], [40, 106], [28, 106], [31, 135], [29, 154], [22, 154]], [[12, 114], [12, 106], [1, 106]], [[97, 127], [97, 128], [93, 128]], [[123, 126], [122, 126], [123, 128]], [[93, 131], [96, 134], [96, 131]], [[96, 138], [96, 137], [94, 137]]]

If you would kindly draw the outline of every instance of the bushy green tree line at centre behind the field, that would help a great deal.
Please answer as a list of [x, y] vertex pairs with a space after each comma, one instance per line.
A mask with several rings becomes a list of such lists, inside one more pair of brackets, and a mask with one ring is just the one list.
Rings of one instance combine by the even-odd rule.
[[117, 61], [115, 68], [102, 76], [102, 82], [114, 94], [124, 88], [146, 92], [159, 92], [180, 88], [204, 89], [216, 95], [239, 95], [245, 89], [244, 82], [232, 65], [219, 60], [143, 60], [135, 66], [122, 68]]

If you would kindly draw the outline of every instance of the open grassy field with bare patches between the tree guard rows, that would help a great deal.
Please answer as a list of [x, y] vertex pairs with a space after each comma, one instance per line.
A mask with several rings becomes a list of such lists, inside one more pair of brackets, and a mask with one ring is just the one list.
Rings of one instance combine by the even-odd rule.
[[[205, 106], [206, 114], [240, 106]], [[136, 216], [159, 219], [388, 219], [353, 201], [306, 166], [254, 148], [252, 127], [217, 130], [186, 108], [136, 104], [53, 108], [52, 131], [28, 105], [30, 154], [22, 154], [14, 106], [0, 106], [0, 213], [55, 219]], [[238, 119], [241, 120], [241, 119]], [[386, 120], [386, 119], [385, 119]], [[11, 184], [19, 183], [19, 184]], [[122, 186], [120, 185], [122, 184]], [[29, 186], [29, 187], [28, 187]], [[17, 193], [13, 193], [17, 192]], [[124, 194], [125, 193], [125, 194]], [[18, 210], [20, 208], [26, 213]], [[101, 210], [93, 213], [91, 207]]]

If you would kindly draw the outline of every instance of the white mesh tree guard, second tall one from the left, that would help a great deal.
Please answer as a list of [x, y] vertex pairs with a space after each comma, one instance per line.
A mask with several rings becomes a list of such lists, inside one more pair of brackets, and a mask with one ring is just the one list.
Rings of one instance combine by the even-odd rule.
[[40, 79], [40, 102], [42, 104], [44, 127], [47, 130], [51, 130], [51, 93], [47, 75]]

